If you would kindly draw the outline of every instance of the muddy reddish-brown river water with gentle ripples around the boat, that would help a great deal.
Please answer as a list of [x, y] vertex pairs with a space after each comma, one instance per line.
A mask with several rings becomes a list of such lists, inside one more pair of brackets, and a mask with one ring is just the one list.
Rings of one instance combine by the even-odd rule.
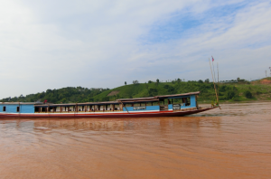
[[0, 120], [0, 178], [271, 178], [271, 102], [180, 118]]

